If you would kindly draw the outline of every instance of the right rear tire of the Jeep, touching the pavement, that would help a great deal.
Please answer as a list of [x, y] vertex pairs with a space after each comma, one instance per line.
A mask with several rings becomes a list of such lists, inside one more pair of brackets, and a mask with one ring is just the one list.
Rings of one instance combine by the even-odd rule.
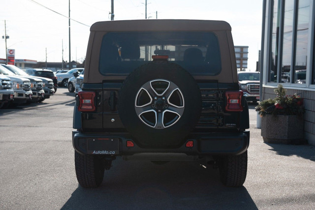
[[247, 174], [247, 151], [219, 159], [221, 182], [228, 187], [242, 186]]

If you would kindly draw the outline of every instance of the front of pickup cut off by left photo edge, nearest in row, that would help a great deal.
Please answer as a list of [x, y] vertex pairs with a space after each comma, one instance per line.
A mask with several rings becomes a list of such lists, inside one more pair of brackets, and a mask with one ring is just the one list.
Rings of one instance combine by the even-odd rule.
[[13, 100], [14, 91], [11, 79], [0, 74], [0, 109], [6, 108]]

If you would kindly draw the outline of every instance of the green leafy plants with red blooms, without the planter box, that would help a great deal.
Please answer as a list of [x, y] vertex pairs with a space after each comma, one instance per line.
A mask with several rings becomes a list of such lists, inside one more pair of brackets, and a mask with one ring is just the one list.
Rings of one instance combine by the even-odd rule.
[[263, 100], [255, 107], [255, 110], [261, 117], [266, 114], [303, 115], [303, 98], [297, 95], [297, 93], [294, 93], [293, 95], [286, 95], [286, 91], [281, 84], [279, 84], [278, 88], [274, 91], [277, 94], [276, 98]]

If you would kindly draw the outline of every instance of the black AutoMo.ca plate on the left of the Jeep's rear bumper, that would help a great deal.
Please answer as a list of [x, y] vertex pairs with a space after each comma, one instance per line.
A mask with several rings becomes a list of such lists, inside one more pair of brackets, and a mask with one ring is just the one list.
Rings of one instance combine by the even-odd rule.
[[88, 153], [91, 154], [119, 154], [119, 139], [93, 138], [88, 139]]

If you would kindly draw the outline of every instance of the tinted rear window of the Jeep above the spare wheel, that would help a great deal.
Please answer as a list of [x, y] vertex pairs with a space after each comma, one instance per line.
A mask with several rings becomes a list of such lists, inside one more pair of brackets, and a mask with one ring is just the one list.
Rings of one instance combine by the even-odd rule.
[[101, 74], [129, 74], [152, 61], [168, 56], [193, 75], [221, 72], [220, 47], [212, 32], [109, 32], [103, 36], [99, 71]]

